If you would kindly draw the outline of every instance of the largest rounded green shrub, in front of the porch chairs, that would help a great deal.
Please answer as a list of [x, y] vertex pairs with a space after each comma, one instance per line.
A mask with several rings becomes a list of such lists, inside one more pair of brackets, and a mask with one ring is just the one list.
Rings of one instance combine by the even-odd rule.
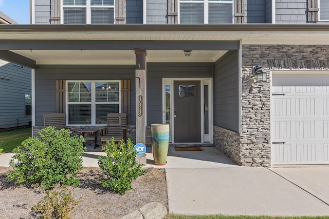
[[9, 162], [13, 170], [7, 174], [15, 183], [40, 184], [46, 189], [55, 185], [79, 185], [76, 177], [82, 169], [84, 138], [71, 137], [68, 129], [56, 130], [49, 126], [38, 132], [40, 138], [30, 137], [14, 149]]

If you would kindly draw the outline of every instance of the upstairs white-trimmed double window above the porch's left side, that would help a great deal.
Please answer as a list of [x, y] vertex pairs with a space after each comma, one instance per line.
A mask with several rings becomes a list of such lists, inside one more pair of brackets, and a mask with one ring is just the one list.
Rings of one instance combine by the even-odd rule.
[[63, 24], [114, 24], [114, 0], [62, 0]]

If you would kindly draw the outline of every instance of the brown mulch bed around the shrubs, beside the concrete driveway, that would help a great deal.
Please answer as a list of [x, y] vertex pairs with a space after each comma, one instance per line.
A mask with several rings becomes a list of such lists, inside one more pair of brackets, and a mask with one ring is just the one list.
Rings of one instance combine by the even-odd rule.
[[[7, 182], [9, 169], [0, 167], [0, 218], [37, 218], [31, 207], [42, 201], [43, 195], [32, 187]], [[75, 198], [82, 197], [71, 218], [120, 218], [150, 202], [159, 202], [168, 209], [165, 170], [147, 170], [133, 181], [132, 190], [120, 195], [102, 187], [99, 168], [83, 168], [78, 175], [80, 185], [70, 187]]]

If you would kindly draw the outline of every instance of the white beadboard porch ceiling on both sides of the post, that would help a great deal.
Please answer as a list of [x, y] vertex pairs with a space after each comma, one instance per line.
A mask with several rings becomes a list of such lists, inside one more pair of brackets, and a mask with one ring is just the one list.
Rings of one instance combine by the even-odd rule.
[[[11, 50], [33, 59], [38, 65], [135, 65], [133, 50]], [[147, 51], [147, 62], [215, 62], [227, 51], [191, 51], [185, 56], [183, 50]]]

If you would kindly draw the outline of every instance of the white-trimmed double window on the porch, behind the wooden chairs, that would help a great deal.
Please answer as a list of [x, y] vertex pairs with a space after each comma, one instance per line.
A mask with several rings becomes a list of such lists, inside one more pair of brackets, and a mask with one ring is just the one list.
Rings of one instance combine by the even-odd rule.
[[120, 112], [120, 81], [67, 81], [69, 125], [106, 124], [107, 113]]

